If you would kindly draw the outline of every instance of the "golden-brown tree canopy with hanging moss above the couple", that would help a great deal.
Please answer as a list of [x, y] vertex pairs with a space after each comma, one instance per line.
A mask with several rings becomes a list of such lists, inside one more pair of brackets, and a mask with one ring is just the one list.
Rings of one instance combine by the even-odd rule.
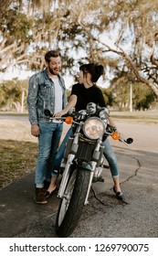
[[126, 70], [158, 96], [157, 0], [6, 0], [4, 5], [0, 70], [42, 69], [41, 56], [55, 47], [64, 56], [64, 72], [73, 74], [81, 62], [100, 62], [110, 80]]

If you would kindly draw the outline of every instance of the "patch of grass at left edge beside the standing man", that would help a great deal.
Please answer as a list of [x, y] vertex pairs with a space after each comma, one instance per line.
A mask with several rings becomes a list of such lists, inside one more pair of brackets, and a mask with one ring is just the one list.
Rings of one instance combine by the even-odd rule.
[[2, 188], [35, 169], [37, 144], [1, 140], [0, 159], [0, 188]]

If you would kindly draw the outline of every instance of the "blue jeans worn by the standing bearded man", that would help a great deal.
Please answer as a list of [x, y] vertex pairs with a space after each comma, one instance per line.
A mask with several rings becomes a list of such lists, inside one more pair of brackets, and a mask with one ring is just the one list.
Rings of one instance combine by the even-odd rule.
[[51, 176], [54, 176], [54, 159], [58, 151], [62, 129], [63, 123], [39, 122], [36, 187], [43, 187], [44, 180], [50, 180]]

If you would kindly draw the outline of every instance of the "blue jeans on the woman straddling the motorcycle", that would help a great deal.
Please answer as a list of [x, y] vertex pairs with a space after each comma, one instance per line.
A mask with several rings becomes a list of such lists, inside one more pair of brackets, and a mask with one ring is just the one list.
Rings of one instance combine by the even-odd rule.
[[[68, 141], [68, 136], [72, 135], [72, 129], [69, 128], [68, 133], [66, 134], [62, 144], [60, 145], [58, 149], [58, 153], [56, 155], [56, 160], [55, 160], [55, 169], [58, 170], [59, 166], [61, 164], [61, 160], [64, 156], [64, 151], [65, 151], [65, 146]], [[118, 167], [118, 162], [115, 153], [113, 152], [113, 149], [111, 147], [111, 144], [108, 139], [106, 139], [102, 144], [105, 145], [104, 148], [104, 156], [107, 159], [110, 169], [111, 169], [111, 176], [119, 176], [119, 167]]]

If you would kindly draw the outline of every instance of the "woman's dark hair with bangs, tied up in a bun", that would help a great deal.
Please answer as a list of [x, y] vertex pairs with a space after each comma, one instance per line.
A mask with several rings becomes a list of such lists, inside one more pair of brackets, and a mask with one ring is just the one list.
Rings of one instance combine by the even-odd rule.
[[104, 72], [102, 65], [96, 65], [94, 63], [83, 64], [79, 67], [79, 70], [83, 71], [83, 74], [90, 73], [91, 81], [96, 82]]

